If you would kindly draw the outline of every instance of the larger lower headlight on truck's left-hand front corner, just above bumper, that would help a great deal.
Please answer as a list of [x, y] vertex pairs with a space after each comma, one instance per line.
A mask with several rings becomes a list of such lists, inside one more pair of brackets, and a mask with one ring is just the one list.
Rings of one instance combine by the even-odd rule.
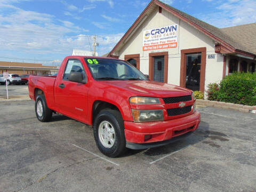
[[163, 121], [163, 110], [135, 110], [132, 109], [134, 122]]

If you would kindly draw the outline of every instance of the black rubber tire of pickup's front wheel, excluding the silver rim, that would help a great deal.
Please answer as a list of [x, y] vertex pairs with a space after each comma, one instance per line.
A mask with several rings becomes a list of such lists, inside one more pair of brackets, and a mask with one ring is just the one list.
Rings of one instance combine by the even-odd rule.
[[[110, 122], [115, 130], [115, 142], [111, 148], [103, 146], [99, 138], [99, 126], [103, 121]], [[124, 135], [124, 121], [119, 111], [112, 109], [103, 109], [100, 111], [94, 121], [93, 133], [96, 145], [102, 154], [108, 157], [117, 157], [125, 153], [126, 140]]]

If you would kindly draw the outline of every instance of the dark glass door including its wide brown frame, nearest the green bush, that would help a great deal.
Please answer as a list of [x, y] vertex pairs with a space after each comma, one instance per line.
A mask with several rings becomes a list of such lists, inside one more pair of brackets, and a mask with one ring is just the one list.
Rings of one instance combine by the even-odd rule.
[[206, 47], [181, 50], [180, 86], [204, 93]]

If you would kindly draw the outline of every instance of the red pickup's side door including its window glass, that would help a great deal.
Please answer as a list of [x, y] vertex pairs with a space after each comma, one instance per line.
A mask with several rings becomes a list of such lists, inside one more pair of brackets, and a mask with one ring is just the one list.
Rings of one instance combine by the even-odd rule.
[[76, 83], [68, 80], [71, 72], [80, 72], [85, 78], [85, 70], [82, 62], [77, 59], [69, 59], [62, 78], [55, 83], [55, 103], [60, 113], [71, 118], [87, 122], [87, 97], [88, 83]]

